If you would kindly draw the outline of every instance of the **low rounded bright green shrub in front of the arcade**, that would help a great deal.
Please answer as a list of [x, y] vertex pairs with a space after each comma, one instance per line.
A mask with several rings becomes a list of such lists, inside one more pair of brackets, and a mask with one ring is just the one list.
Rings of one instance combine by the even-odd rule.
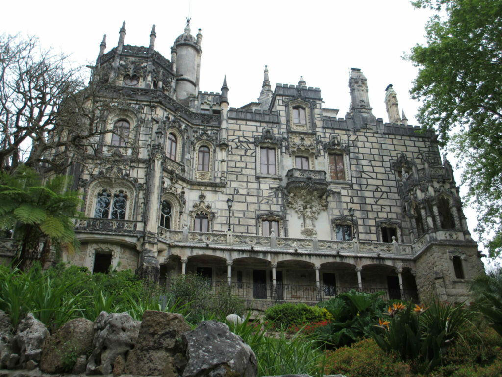
[[326, 312], [318, 307], [306, 304], [285, 303], [274, 305], [265, 310], [265, 318], [273, 322], [275, 328], [288, 329], [291, 326], [302, 326], [311, 322], [319, 322], [326, 319]]

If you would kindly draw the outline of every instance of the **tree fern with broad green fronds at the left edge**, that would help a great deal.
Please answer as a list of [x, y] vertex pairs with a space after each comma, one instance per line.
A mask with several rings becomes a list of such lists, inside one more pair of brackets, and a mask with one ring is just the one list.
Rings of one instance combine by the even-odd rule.
[[51, 248], [72, 253], [79, 242], [73, 219], [81, 217], [80, 194], [66, 190], [68, 177], [45, 182], [33, 169], [20, 166], [11, 175], [0, 172], [0, 229], [13, 232], [21, 269], [42, 261]]

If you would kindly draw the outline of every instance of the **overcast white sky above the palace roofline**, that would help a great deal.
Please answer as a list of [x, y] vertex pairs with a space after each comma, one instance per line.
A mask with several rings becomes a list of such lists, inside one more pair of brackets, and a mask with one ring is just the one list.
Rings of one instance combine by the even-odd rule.
[[[356, 67], [368, 79], [376, 118], [389, 121], [384, 98], [392, 83], [400, 109], [417, 124], [419, 103], [409, 95], [417, 68], [403, 56], [424, 42], [431, 12], [407, 0], [2, 0], [2, 14], [0, 32], [37, 36], [44, 47], [71, 54], [81, 65], [95, 61], [103, 34], [107, 51], [116, 46], [124, 20], [125, 43], [131, 45], [148, 46], [156, 24], [155, 48], [170, 60], [189, 15], [192, 35], [199, 28], [203, 34], [200, 90], [220, 91], [226, 74], [231, 107], [257, 100], [267, 64], [273, 88], [297, 84], [303, 75], [308, 86], [321, 88], [324, 107], [339, 109], [343, 117], [350, 103], [349, 69]], [[466, 216], [472, 231], [475, 214], [468, 210]]]

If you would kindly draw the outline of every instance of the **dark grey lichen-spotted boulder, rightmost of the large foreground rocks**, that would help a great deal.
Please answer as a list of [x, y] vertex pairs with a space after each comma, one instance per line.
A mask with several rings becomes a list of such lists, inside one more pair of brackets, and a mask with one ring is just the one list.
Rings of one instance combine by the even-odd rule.
[[256, 377], [255, 352], [227, 325], [202, 321], [182, 336], [188, 363], [183, 377]]

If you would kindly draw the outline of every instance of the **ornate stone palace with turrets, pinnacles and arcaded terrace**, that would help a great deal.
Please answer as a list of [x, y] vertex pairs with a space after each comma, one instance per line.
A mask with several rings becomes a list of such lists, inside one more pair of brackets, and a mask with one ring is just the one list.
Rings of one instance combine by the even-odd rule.
[[[355, 288], [389, 298], [465, 297], [483, 271], [452, 167], [433, 130], [371, 112], [352, 68], [350, 109], [321, 90], [277, 84], [265, 67], [257, 102], [229, 107], [199, 90], [202, 33], [189, 23], [171, 60], [148, 47], [100, 45], [93, 80], [113, 106], [86, 165], [69, 172], [84, 195], [80, 252], [66, 261], [105, 271], [199, 273], [254, 300], [316, 302]], [[241, 89], [242, 90], [242, 89]], [[258, 93], [257, 93], [258, 94]]]

